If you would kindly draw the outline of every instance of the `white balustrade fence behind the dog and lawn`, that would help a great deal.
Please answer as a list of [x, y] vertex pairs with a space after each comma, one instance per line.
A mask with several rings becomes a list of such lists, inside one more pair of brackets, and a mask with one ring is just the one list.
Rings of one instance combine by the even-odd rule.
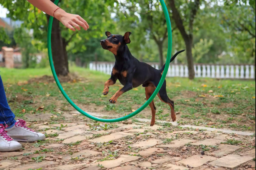
[[[160, 69], [158, 63], [147, 63]], [[98, 70], [111, 75], [114, 63], [91, 62], [90, 70]], [[195, 64], [196, 77], [209, 77], [219, 79], [254, 79], [255, 68], [252, 64]], [[188, 77], [188, 66], [184, 64], [170, 64], [166, 77]]]

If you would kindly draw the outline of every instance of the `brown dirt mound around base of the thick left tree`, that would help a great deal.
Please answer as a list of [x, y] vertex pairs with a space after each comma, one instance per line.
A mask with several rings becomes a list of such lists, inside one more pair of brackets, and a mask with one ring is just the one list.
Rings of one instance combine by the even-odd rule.
[[[75, 73], [69, 73], [67, 76], [58, 76], [59, 82], [79, 82], [82, 81], [83, 79], [79, 77]], [[53, 76], [42, 76], [42, 77], [34, 77], [30, 80], [28, 80], [28, 84], [31, 83], [54, 83], [55, 80]]]

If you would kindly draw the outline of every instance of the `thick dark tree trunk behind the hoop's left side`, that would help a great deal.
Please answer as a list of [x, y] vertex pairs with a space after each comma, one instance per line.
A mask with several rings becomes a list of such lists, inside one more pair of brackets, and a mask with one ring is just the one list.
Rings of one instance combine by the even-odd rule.
[[[47, 15], [47, 21], [49, 23], [50, 16]], [[53, 19], [52, 27], [52, 55], [53, 55], [53, 65], [57, 76], [67, 76], [69, 73], [68, 69], [68, 58], [66, 52], [66, 46], [64, 46], [59, 21], [55, 18]]]

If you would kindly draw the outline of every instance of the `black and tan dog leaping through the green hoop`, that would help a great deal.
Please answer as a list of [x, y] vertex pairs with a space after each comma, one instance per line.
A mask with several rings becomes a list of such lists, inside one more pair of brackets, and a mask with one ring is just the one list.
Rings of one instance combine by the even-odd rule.
[[[154, 90], [158, 86], [158, 83], [161, 79], [162, 72], [164, 71], [165, 65], [157, 70], [152, 66], [140, 62], [136, 58], [134, 58], [131, 52], [128, 49], [127, 44], [131, 42], [129, 36], [131, 32], [127, 32], [122, 35], [111, 34], [110, 32], [106, 32], [107, 39], [101, 40], [100, 44], [103, 49], [109, 50], [115, 55], [116, 62], [113, 67], [111, 77], [107, 82], [105, 82], [105, 87], [103, 90], [103, 94], [107, 95], [109, 93], [109, 86], [116, 83], [118, 79], [119, 82], [124, 86], [122, 89], [118, 90], [116, 94], [114, 94], [110, 99], [110, 103], [116, 103], [117, 98], [131, 90], [132, 88], [136, 88], [142, 84], [142, 87], [145, 87], [146, 91], [146, 99], [148, 100], [150, 96], [153, 94]], [[174, 58], [184, 50], [177, 52], [172, 58], [171, 62]], [[167, 103], [171, 107], [171, 117], [172, 120], [176, 120], [176, 115], [174, 112], [174, 102], [169, 99], [166, 93], [166, 81], [164, 81], [159, 93], [158, 97], [161, 101]], [[152, 119], [151, 126], [155, 124], [155, 113], [156, 107], [154, 105], [154, 100], [149, 104], [152, 111]]]

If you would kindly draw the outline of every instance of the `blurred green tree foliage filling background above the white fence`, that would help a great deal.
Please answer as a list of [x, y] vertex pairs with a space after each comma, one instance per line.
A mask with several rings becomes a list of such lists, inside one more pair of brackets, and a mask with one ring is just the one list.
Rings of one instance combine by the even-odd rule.
[[[187, 49], [177, 60], [189, 65], [192, 78], [194, 62], [253, 63], [255, 0], [168, 0], [165, 3], [173, 28], [172, 53]], [[27, 1], [0, 0], [0, 4], [9, 10], [8, 16], [13, 20], [23, 21], [22, 29], [27, 31], [17, 31], [19, 39], [33, 30], [29, 40], [33, 43], [24, 43], [28, 49], [31, 44], [37, 50], [46, 48], [49, 16]], [[88, 31], [72, 32], [57, 23], [62, 43], [56, 46], [64, 47], [61, 55], [69, 60], [79, 61], [81, 66], [90, 61], [114, 61], [113, 54], [103, 50], [99, 41], [105, 39], [105, 31], [114, 34], [130, 31], [128, 46], [134, 57], [146, 62], [165, 61], [166, 21], [158, 1], [60, 0], [59, 6], [82, 16], [90, 25]], [[0, 28], [0, 36], [8, 38], [3, 28]]]

